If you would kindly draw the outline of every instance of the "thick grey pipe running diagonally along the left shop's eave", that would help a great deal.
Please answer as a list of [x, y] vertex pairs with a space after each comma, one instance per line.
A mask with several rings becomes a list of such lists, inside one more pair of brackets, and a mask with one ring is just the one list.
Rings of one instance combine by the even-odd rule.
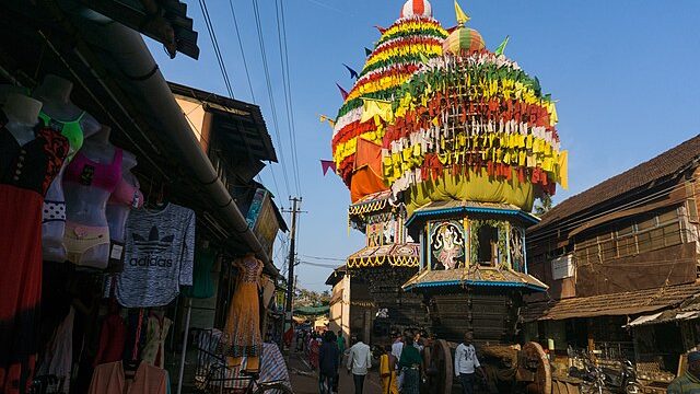
[[[88, 16], [82, 13], [82, 16]], [[191, 169], [195, 177], [203, 185], [218, 207], [219, 213], [225, 219], [232, 231], [238, 234], [266, 267], [275, 274], [278, 269], [271, 263], [260, 242], [255, 236], [247, 221], [238, 210], [231, 194], [219, 178], [217, 171], [207, 154], [195, 138], [182, 108], [177, 105], [165, 78], [158, 63], [151, 56], [143, 38], [137, 32], [119, 23], [101, 23], [102, 20], [90, 19], [86, 23], [77, 23], [77, 28], [92, 45], [107, 51], [114, 59], [117, 72], [121, 72], [128, 80], [129, 91], [138, 92], [145, 103], [147, 111], [156, 117], [162, 126], [160, 131], [167, 135], [180, 151], [185, 164]]]

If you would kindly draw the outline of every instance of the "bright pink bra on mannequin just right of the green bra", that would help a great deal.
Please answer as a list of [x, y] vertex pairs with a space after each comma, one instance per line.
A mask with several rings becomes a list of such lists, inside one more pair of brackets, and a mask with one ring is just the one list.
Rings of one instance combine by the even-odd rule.
[[121, 179], [121, 149], [116, 148], [112, 163], [102, 164], [88, 159], [79, 151], [73, 161], [68, 164], [63, 181], [94, 186], [113, 193]]

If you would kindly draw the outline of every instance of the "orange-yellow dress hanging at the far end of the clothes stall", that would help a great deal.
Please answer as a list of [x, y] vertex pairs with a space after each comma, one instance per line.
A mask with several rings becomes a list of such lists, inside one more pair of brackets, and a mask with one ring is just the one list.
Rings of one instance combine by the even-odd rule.
[[231, 300], [224, 338], [226, 356], [231, 366], [240, 366], [247, 357], [246, 370], [257, 371], [262, 346], [260, 337], [260, 312], [258, 286], [262, 273], [262, 262], [248, 254], [234, 262], [238, 268], [238, 281]]

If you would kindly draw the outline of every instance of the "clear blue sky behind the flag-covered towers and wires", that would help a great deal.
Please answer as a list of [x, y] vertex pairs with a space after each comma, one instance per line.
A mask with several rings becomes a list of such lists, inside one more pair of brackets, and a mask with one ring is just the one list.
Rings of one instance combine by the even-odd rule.
[[[339, 265], [310, 256], [343, 258], [361, 248], [364, 239], [354, 231], [348, 234], [347, 188], [336, 175], [324, 177], [320, 172], [319, 160], [331, 158], [331, 130], [318, 121], [318, 114], [336, 115], [342, 103], [335, 83], [347, 90], [352, 86], [342, 63], [360, 71], [363, 47], [372, 48], [380, 37], [372, 26], [388, 27], [404, 1], [281, 1], [302, 209], [307, 211], [300, 220], [299, 256], [304, 262]], [[199, 32], [199, 60], [183, 55], [171, 60], [158, 44], [149, 42], [151, 51], [168, 80], [225, 95], [199, 2], [186, 2]], [[262, 108], [278, 157], [281, 151], [285, 159], [282, 164], [266, 167], [261, 177], [276, 194], [278, 205], [288, 208], [288, 196], [294, 195], [295, 188], [275, 1], [259, 0], [258, 7], [279, 130], [272, 121], [252, 4], [253, 0], [233, 0], [255, 103]], [[558, 190], [555, 202], [700, 132], [699, 1], [462, 0], [460, 4], [471, 16], [469, 26], [481, 33], [489, 48], [510, 35], [506, 56], [537, 76], [542, 90], [559, 100], [558, 129], [562, 147], [570, 151], [570, 189]], [[452, 0], [434, 0], [432, 5], [433, 15], [443, 26], [455, 24]], [[254, 102], [229, 1], [209, 0], [207, 7], [235, 99]], [[284, 247], [278, 245], [275, 260], [279, 266], [284, 260]], [[296, 274], [300, 286], [323, 290], [330, 269], [301, 264]]]

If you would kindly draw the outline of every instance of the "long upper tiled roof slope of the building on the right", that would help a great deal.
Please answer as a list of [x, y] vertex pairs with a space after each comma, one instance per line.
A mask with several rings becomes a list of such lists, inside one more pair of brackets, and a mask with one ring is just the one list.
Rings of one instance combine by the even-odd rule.
[[536, 232], [551, 223], [572, 217], [595, 205], [606, 202], [617, 196], [632, 192], [661, 178], [672, 176], [685, 170], [700, 158], [700, 135], [643, 162], [619, 175], [593, 186], [556, 205], [541, 217], [541, 221], [532, 227]]

